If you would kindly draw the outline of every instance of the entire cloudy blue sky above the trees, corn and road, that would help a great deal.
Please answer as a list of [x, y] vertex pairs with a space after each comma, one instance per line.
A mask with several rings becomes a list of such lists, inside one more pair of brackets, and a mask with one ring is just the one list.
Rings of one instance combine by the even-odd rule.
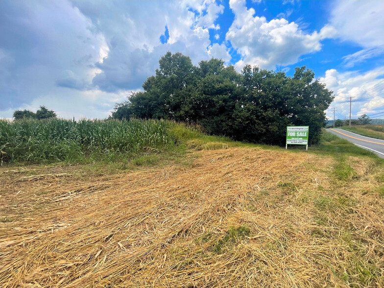
[[[335, 94], [327, 117], [384, 118], [384, 1], [0, 1], [0, 118], [40, 105], [105, 118], [167, 51], [292, 76]], [[383, 112], [383, 113], [382, 113]]]

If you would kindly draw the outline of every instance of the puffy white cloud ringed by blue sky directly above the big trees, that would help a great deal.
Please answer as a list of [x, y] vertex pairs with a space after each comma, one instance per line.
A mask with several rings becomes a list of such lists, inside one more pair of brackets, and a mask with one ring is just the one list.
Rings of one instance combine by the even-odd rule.
[[267, 22], [265, 17], [254, 16], [255, 10], [247, 9], [244, 1], [231, 0], [229, 5], [235, 20], [226, 39], [242, 56], [236, 63], [238, 69], [245, 64], [271, 69], [275, 65], [296, 63], [301, 55], [319, 51], [321, 40], [336, 36], [331, 25], [307, 34], [298, 24], [283, 18]]

